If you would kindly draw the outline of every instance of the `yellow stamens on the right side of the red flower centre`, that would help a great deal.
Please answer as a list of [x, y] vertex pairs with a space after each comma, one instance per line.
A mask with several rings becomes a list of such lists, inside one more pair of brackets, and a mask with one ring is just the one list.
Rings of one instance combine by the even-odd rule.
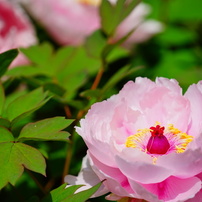
[[187, 145], [193, 140], [193, 136], [182, 133], [179, 129], [175, 128], [173, 124], [169, 124], [168, 130], [182, 142], [181, 144], [175, 146], [176, 152], [183, 153], [186, 150]]

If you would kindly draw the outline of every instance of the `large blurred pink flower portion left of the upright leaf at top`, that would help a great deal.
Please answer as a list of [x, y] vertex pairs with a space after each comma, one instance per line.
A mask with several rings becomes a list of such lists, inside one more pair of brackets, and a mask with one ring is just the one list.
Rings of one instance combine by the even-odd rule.
[[25, 5], [61, 45], [80, 45], [100, 26], [96, 0], [28, 0]]

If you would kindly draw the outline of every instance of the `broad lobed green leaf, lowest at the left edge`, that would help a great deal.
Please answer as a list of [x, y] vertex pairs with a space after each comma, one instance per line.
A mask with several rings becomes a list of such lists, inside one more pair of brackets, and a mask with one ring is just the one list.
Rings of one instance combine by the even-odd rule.
[[0, 189], [7, 183], [15, 185], [24, 167], [45, 175], [45, 159], [33, 147], [22, 143], [0, 143], [0, 153]]

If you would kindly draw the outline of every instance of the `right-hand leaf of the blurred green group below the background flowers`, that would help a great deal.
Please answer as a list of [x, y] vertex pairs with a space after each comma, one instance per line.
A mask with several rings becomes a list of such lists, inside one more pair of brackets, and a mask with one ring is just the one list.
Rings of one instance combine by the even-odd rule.
[[66, 90], [64, 98], [70, 100], [76, 94], [77, 89], [87, 81], [87, 78], [97, 72], [101, 61], [89, 57], [82, 47], [66, 47], [63, 54], [68, 63], [58, 66], [57, 79], [58, 84]]

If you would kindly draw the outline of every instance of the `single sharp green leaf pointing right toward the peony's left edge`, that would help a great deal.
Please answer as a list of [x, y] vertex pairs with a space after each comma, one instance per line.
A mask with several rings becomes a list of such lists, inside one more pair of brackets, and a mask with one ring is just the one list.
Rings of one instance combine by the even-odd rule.
[[60, 130], [66, 128], [72, 122], [73, 120], [65, 119], [64, 117], [54, 117], [29, 123], [20, 132], [18, 140], [67, 141], [69, 133]]

